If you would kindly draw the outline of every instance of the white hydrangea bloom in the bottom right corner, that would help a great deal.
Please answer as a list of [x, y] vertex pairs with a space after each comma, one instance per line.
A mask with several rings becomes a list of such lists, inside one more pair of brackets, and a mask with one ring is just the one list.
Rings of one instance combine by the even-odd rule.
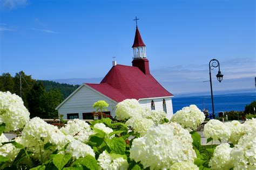
[[256, 169], [256, 132], [245, 134], [232, 148], [234, 170]]

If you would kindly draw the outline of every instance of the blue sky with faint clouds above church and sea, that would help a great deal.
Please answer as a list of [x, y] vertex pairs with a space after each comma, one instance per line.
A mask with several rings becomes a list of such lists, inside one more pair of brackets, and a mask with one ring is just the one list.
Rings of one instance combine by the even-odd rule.
[[[0, 1], [0, 73], [99, 82], [131, 65], [136, 23], [151, 74], [173, 94], [254, 88], [255, 1]], [[61, 79], [61, 80], [60, 80]], [[63, 80], [65, 79], [65, 80]], [[72, 79], [72, 80], [71, 80]]]

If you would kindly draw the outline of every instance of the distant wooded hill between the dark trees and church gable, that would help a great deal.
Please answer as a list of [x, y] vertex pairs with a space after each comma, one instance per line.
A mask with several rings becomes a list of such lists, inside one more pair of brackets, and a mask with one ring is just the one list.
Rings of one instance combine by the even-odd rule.
[[55, 81], [49, 80], [37, 80], [37, 82], [41, 81], [44, 85], [46, 91], [50, 91], [52, 89], [58, 89], [63, 94], [64, 98], [68, 97], [73, 91], [75, 91], [80, 85], [72, 85], [67, 83], [58, 83]]

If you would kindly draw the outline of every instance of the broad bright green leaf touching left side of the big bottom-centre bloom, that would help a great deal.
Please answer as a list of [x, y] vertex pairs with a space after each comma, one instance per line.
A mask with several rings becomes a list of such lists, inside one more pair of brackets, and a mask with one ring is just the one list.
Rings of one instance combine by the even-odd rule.
[[105, 142], [113, 153], [125, 154], [126, 144], [123, 138], [114, 137], [112, 139], [106, 139]]

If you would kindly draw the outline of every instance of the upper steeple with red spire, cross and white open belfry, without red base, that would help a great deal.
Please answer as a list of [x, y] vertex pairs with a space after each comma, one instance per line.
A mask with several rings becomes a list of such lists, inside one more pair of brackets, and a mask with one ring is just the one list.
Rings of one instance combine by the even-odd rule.
[[144, 59], [146, 58], [146, 45], [144, 44], [142, 40], [142, 36], [140, 36], [138, 25], [137, 25], [137, 20], [138, 18], [136, 17], [136, 32], [135, 32], [135, 37], [134, 37], [134, 42], [132, 45], [133, 48], [133, 59]]

